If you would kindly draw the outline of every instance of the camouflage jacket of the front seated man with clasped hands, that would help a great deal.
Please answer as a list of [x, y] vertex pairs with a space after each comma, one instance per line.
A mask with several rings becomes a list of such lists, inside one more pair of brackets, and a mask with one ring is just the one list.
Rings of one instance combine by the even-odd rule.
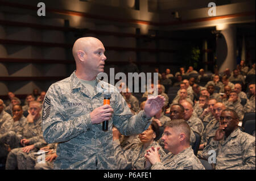
[[152, 170], [205, 170], [200, 160], [195, 156], [191, 146], [179, 154], [168, 153], [151, 166]]

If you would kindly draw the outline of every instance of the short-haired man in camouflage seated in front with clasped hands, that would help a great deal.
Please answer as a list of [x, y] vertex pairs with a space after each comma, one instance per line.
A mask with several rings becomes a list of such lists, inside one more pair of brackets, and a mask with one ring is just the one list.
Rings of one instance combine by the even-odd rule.
[[164, 128], [162, 140], [164, 149], [170, 151], [159, 157], [157, 147], [147, 150], [145, 168], [152, 170], [205, 170], [189, 145], [191, 129], [184, 120], [172, 120]]

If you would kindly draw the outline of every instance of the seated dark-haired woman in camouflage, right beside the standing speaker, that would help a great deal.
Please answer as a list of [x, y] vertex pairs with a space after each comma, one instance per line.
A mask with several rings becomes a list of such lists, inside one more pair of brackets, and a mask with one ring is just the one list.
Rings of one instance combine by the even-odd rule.
[[[118, 169], [144, 169], [144, 163], [146, 159], [144, 154], [151, 146], [159, 147], [159, 144], [155, 141], [155, 138], [159, 136], [159, 127], [155, 121], [152, 121], [150, 127], [146, 131], [139, 134], [139, 141], [134, 142], [133, 145], [127, 150], [123, 150], [120, 146], [119, 137], [121, 133], [117, 128], [113, 128], [113, 144], [114, 155]], [[165, 155], [164, 150], [160, 149], [159, 154], [161, 157]]]

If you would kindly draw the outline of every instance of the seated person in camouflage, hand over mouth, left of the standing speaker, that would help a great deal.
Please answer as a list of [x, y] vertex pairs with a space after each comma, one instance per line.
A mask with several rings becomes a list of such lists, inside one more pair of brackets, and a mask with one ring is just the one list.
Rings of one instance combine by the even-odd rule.
[[[23, 151], [28, 154], [30, 151], [37, 151], [42, 146], [47, 145], [43, 139], [42, 134], [42, 104], [36, 101], [32, 101], [29, 104], [27, 123], [24, 125], [22, 130], [22, 136], [16, 136], [15, 140], [19, 148], [12, 149], [7, 156], [6, 169], [14, 170], [17, 167], [16, 156], [19, 151]], [[20, 148], [20, 146], [23, 146]]]

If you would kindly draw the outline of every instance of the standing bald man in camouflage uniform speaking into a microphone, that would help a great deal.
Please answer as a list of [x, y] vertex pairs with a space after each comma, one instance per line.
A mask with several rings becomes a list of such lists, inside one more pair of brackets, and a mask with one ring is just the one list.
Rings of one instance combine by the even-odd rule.
[[[97, 79], [106, 60], [101, 41], [82, 37], [72, 53], [76, 70], [53, 83], [44, 99], [43, 136], [48, 144], [58, 143], [55, 169], [115, 169], [112, 126], [126, 136], [143, 132], [165, 99], [147, 99], [144, 111], [133, 116], [117, 88]], [[106, 91], [110, 105], [102, 106]], [[109, 121], [108, 131], [102, 131], [103, 121]]]

